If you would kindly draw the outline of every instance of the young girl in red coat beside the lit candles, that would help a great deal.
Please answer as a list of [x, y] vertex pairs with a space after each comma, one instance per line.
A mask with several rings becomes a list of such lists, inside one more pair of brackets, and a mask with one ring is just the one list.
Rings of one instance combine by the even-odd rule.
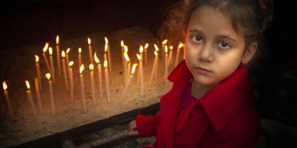
[[[246, 66], [257, 50], [256, 0], [182, 0], [162, 35], [184, 40], [160, 112], [138, 115], [129, 135], [156, 136], [152, 148], [255, 148], [261, 132]], [[147, 146], [147, 148], [151, 148]]]

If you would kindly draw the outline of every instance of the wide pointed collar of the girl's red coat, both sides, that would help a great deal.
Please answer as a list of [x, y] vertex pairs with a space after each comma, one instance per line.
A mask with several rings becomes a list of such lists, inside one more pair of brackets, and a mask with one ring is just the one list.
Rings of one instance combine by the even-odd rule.
[[[185, 60], [183, 60], [168, 76], [172, 81], [176, 99], [187, 88], [193, 78]], [[252, 86], [248, 79], [246, 66], [240, 64], [233, 74], [222, 80], [217, 86], [205, 93], [199, 102], [208, 116], [215, 131], [224, 128], [236, 115], [236, 113], [253, 98]]]

